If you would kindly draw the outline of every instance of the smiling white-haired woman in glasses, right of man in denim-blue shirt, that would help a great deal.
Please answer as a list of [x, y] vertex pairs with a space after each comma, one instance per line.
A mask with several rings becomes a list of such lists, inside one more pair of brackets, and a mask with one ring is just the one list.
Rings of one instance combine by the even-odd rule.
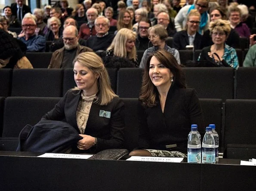
[[53, 41], [54, 39], [59, 39], [62, 36], [61, 22], [59, 18], [52, 17], [47, 21], [47, 26], [50, 29], [46, 34], [46, 41]]

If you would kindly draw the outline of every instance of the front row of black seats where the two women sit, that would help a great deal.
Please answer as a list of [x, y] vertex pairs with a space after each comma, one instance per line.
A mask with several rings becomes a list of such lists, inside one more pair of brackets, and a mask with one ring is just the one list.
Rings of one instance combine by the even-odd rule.
[[[60, 100], [52, 97], [8, 97], [0, 98], [0, 150], [15, 150], [19, 132], [26, 124], [35, 125], [41, 117]], [[125, 104], [125, 148], [138, 146], [139, 119], [135, 108], [137, 98], [123, 98]], [[220, 151], [227, 148], [250, 148], [256, 143], [256, 100], [200, 99], [204, 122], [216, 124]], [[246, 144], [245, 144], [246, 143]], [[241, 152], [241, 151], [240, 151]], [[248, 152], [245, 151], [244, 152]], [[247, 153], [246, 157], [250, 155]], [[225, 154], [227, 157], [227, 155]], [[243, 158], [243, 156], [239, 155]], [[254, 156], [255, 157], [255, 156]], [[233, 153], [232, 158], [235, 158]], [[250, 157], [252, 158], [252, 157]]]

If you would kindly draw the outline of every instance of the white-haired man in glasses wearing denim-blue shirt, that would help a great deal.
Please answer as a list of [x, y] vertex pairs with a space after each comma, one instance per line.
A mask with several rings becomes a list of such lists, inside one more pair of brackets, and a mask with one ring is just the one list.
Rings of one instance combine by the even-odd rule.
[[45, 38], [35, 34], [36, 28], [37, 24], [33, 17], [25, 17], [22, 19], [22, 30], [24, 33], [18, 39], [27, 45], [27, 52], [45, 51]]

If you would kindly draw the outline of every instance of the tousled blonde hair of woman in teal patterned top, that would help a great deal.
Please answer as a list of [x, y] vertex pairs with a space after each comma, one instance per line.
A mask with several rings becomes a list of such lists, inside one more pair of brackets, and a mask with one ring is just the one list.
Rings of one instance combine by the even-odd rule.
[[226, 38], [228, 38], [228, 35], [231, 31], [231, 27], [228, 21], [217, 19], [216, 21], [210, 22], [209, 30], [210, 30], [210, 35], [212, 35], [213, 30], [217, 30], [217, 31], [224, 32], [226, 34]]

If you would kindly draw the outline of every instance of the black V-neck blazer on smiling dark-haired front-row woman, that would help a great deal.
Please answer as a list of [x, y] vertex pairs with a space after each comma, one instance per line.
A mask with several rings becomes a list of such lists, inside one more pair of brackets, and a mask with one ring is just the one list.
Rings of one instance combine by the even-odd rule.
[[139, 147], [141, 149], [161, 149], [177, 144], [172, 150], [187, 152], [188, 133], [191, 124], [197, 124], [204, 132], [204, 121], [199, 100], [194, 89], [181, 89], [172, 85], [162, 112], [157, 95], [154, 107], [139, 107]]

